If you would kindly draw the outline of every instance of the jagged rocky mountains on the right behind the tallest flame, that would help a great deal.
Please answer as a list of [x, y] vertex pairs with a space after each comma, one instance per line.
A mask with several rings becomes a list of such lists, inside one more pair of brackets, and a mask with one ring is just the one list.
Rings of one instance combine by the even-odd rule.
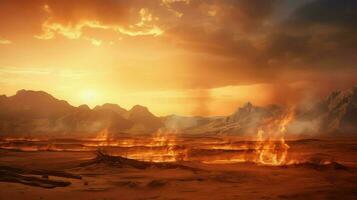
[[[310, 104], [310, 106], [297, 104], [293, 107], [294, 117], [287, 126], [288, 134], [340, 136], [357, 133], [357, 87], [332, 92], [326, 98]], [[259, 107], [247, 103], [228, 116], [215, 118], [168, 116], [165, 124], [169, 124], [169, 127], [181, 128], [181, 132], [189, 134], [249, 136], [257, 133], [257, 128], [264, 120], [277, 119], [288, 109], [282, 105]]]

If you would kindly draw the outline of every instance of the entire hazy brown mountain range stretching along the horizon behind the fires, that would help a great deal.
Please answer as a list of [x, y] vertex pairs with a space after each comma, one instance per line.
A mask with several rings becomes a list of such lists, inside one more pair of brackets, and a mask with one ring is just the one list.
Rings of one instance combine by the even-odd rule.
[[[0, 96], [0, 136], [96, 137], [150, 134], [158, 130], [182, 134], [255, 134], [264, 119], [286, 111], [281, 105], [245, 104], [228, 116], [157, 117], [140, 105], [126, 110], [117, 104], [89, 108], [59, 100], [43, 91], [19, 90]], [[347, 134], [357, 131], [357, 87], [336, 91], [308, 109], [295, 108], [288, 127], [292, 134]]]

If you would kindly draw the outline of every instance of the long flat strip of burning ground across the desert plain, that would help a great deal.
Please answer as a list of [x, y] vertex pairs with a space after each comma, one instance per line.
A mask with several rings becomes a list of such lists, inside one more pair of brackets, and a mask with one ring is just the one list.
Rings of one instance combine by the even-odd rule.
[[[319, 156], [316, 156], [316, 154], [311, 155], [315, 150], [312, 150], [309, 154], [300, 153], [301, 150], [303, 150], [301, 152], [308, 150], [306, 148], [310, 148], [311, 145], [331, 147], [329, 141], [317, 139], [285, 142], [282, 140], [242, 141], [234, 140], [234, 138], [228, 140], [222, 140], [221, 138], [213, 140], [210, 138], [206, 140], [206, 138], [200, 137], [173, 139], [172, 137], [160, 136], [153, 139], [112, 139], [106, 144], [103, 141], [68, 139], [6, 140], [0, 144], [0, 148], [25, 152], [46, 151], [58, 153], [67, 151], [96, 152], [98, 149], [102, 149], [103, 151], [99, 151], [102, 153], [97, 152], [97, 158], [95, 159], [97, 163], [100, 161], [113, 164], [114, 162], [109, 161], [114, 161], [114, 158], [118, 158], [116, 159], [117, 161], [125, 161], [121, 163], [123, 165], [131, 163], [127, 161], [136, 160], [142, 162], [142, 166], [148, 163], [157, 163], [157, 166], [159, 166], [159, 163], [200, 162], [205, 164], [255, 163], [263, 166], [326, 168], [338, 163], [332, 156], [321, 158], [321, 154]], [[342, 148], [344, 146], [341, 144]], [[351, 145], [345, 148], [349, 150]], [[103, 152], [107, 153], [103, 154]], [[95, 162], [93, 161], [93, 163]], [[343, 163], [338, 164], [344, 165]], [[151, 166], [153, 165], [156, 164], [151, 164]]]

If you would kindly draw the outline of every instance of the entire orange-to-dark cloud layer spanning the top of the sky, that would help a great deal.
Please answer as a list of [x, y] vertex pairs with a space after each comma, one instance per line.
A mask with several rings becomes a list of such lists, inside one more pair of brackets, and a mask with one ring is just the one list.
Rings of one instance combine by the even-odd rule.
[[[333, 80], [350, 84], [351, 74], [357, 71], [356, 1], [299, 2], [4, 0], [0, 27], [4, 37], [12, 30], [37, 39], [83, 40], [95, 46], [122, 39], [132, 43], [133, 49], [150, 44], [150, 52], [183, 52], [170, 57], [171, 63], [185, 61], [175, 65], [181, 68], [177, 70], [182, 77], [179, 86], [165, 84], [170, 87], [209, 89], [298, 81], [327, 84]], [[285, 13], [283, 17], [281, 13]], [[160, 45], [151, 43], [154, 40]], [[167, 64], [174, 65], [171, 63], [155, 63], [152, 68], [159, 74]], [[138, 73], [145, 71], [137, 68]], [[151, 84], [156, 80], [143, 74], [146, 82], [140, 87], [158, 87]], [[177, 77], [168, 73], [162, 79]]]

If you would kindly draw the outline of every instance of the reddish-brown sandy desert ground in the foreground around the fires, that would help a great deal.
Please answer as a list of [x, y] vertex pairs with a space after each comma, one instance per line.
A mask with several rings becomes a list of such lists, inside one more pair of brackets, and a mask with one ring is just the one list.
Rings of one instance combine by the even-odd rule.
[[79, 174], [67, 187], [0, 182], [0, 199], [357, 199], [357, 140], [289, 142], [289, 156], [329, 157], [347, 169], [181, 162], [200, 170], [78, 167], [93, 152], [0, 150], [0, 166]]

